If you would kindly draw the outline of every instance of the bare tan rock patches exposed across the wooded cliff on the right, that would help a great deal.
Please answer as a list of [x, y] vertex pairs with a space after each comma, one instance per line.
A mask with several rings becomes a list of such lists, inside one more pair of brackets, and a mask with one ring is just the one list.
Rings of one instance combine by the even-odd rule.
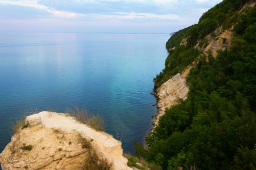
[[[251, 2], [249, 4], [246, 4], [245, 6], [253, 6], [254, 4], [255, 2]], [[204, 40], [201, 39], [197, 42], [194, 48], [202, 51], [202, 53], [206, 56], [212, 54], [214, 57], [217, 57], [217, 51], [227, 50], [231, 47], [231, 40], [233, 38], [232, 29], [233, 27], [226, 30], [222, 27], [219, 27], [214, 31], [214, 36], [212, 34], [208, 34], [204, 38], [207, 40], [207, 43], [204, 46], [200, 46], [200, 44]], [[180, 45], [187, 46], [187, 38], [184, 38], [181, 41]], [[175, 50], [175, 47], [169, 49], [169, 51], [173, 50]], [[182, 70], [181, 73], [177, 73], [175, 76], [170, 78], [167, 82], [163, 83], [160, 87], [156, 89], [155, 96], [158, 100], [158, 113], [154, 122], [154, 129], [158, 125], [159, 118], [164, 115], [165, 109], [177, 104], [178, 99], [186, 99], [189, 92], [189, 88], [186, 85], [186, 77], [188, 76], [190, 70], [196, 65], [197, 60], [192, 62], [187, 68]]]

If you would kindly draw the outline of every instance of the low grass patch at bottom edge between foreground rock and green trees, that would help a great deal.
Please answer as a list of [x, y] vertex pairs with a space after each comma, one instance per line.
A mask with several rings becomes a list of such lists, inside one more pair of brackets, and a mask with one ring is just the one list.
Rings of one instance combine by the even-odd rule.
[[139, 170], [162, 170], [159, 165], [155, 163], [149, 163], [143, 158], [138, 158], [128, 153], [124, 153], [124, 156], [128, 159], [127, 165], [129, 167], [135, 167]]

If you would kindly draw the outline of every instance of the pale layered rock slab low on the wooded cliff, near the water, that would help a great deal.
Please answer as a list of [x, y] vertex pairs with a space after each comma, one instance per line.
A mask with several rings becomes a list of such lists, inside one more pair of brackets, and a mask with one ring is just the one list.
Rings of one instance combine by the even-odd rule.
[[[188, 69], [190, 70], [191, 67]], [[186, 85], [186, 77], [183, 77], [183, 75], [183, 73], [182, 75], [177, 73], [157, 88], [156, 97], [158, 99], [158, 113], [154, 122], [154, 129], [158, 125], [159, 118], [165, 114], [166, 108], [170, 108], [172, 105], [177, 104], [178, 99], [187, 99], [189, 88]], [[186, 74], [184, 76], [186, 76]]]

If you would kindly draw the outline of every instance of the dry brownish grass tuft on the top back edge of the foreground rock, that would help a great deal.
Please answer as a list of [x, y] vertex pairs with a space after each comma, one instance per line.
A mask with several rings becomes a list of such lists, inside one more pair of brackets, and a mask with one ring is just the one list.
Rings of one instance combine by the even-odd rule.
[[79, 109], [77, 106], [74, 106], [75, 110], [66, 109], [66, 113], [73, 115], [79, 122], [87, 124], [96, 131], [104, 131], [105, 120], [100, 116], [90, 113], [85, 109]]

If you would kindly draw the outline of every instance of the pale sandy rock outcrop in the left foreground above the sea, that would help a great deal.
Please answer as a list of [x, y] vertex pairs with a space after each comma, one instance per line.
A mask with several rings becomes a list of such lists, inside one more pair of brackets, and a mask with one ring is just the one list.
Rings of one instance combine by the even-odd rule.
[[[120, 141], [73, 117], [44, 111], [28, 116], [26, 124], [29, 126], [12, 136], [0, 154], [3, 170], [79, 170], [88, 157], [79, 136], [91, 141], [98, 157], [106, 160], [111, 170], [132, 170], [122, 156]], [[32, 146], [31, 151], [24, 150], [27, 145]]]

